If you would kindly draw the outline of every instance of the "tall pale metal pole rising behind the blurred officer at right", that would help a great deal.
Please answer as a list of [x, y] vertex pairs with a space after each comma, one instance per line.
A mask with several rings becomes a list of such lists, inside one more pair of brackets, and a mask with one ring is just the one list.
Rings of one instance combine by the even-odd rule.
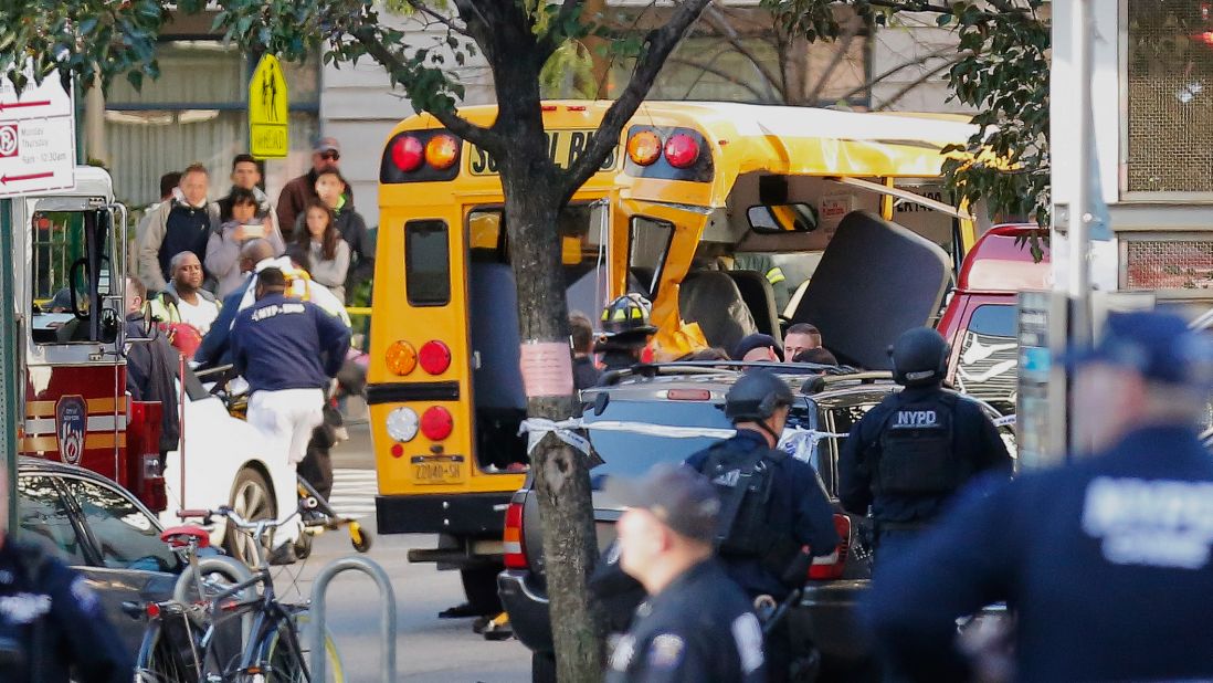
[[[1094, 166], [1094, 131], [1093, 118], [1090, 116], [1090, 79], [1094, 75], [1092, 68], [1092, 0], [1077, 0], [1074, 4], [1074, 73], [1077, 75], [1077, 85], [1074, 93], [1076, 119], [1078, 120], [1075, 143], [1078, 147], [1078, 163], [1074, 165], [1076, 177], [1074, 180], [1074, 203], [1070, 206], [1069, 233], [1066, 243], [1069, 247], [1066, 294], [1069, 298], [1069, 334], [1067, 342], [1071, 347], [1082, 347], [1092, 342], [1092, 309], [1090, 309], [1090, 226], [1094, 222], [1093, 211], [1093, 187], [1087, 173], [1098, 172]], [[1072, 382], [1067, 388], [1072, 388]], [[1077, 417], [1074, 405], [1074, 392], [1066, 392], [1066, 416], [1069, 448], [1067, 453], [1082, 453], [1087, 444], [1082, 443], [1082, 425]]]

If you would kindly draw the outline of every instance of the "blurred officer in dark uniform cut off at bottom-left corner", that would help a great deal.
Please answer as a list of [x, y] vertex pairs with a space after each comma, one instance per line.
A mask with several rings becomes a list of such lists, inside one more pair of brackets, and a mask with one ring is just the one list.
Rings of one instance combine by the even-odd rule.
[[0, 467], [0, 681], [129, 683], [135, 665], [97, 593], [47, 551], [6, 537], [8, 490]]

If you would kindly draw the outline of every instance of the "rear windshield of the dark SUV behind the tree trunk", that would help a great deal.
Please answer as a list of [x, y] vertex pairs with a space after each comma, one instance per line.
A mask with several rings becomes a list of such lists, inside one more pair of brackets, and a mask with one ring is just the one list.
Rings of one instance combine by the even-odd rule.
[[[586, 411], [587, 422], [619, 421], [731, 429], [724, 408], [710, 400], [611, 400], [602, 415]], [[656, 437], [631, 432], [590, 429], [590, 440], [603, 463], [590, 472], [594, 489], [605, 476], [638, 477], [659, 462], [682, 462], [719, 439], [712, 437]]]

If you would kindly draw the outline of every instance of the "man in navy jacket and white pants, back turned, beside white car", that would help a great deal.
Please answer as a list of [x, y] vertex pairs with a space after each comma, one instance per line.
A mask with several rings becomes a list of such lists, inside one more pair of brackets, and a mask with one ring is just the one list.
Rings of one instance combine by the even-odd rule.
[[[295, 468], [323, 420], [324, 388], [349, 349], [349, 328], [309, 301], [285, 295], [286, 278], [277, 268], [257, 277], [257, 301], [232, 325], [232, 362], [249, 382], [249, 423], [279, 444], [283, 467], [272, 478], [278, 519], [298, 507]], [[298, 524], [274, 534], [273, 562], [294, 560]]]

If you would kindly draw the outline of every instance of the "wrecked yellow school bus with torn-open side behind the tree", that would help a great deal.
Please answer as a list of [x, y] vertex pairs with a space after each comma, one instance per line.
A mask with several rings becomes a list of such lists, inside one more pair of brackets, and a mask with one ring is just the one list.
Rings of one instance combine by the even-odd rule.
[[[546, 103], [551, 159], [569, 167], [609, 104]], [[496, 107], [460, 113], [488, 126]], [[716, 291], [694, 281], [725, 272], [736, 278], [729, 285], [735, 301], [717, 312], [747, 312], [739, 330], [778, 335], [785, 320], [771, 304], [759, 308], [779, 268], [754, 271], [746, 260], [811, 260], [828, 251], [838, 222], [865, 210], [901, 221], [958, 258], [973, 226], [941, 200], [940, 149], [969, 132], [938, 116], [645, 103], [560, 216], [569, 308], [597, 319], [611, 297], [639, 291], [655, 302], [656, 341], [668, 352], [719, 346], [711, 315], [689, 313], [702, 313]], [[411, 116], [392, 131], [380, 170], [366, 389], [378, 530], [438, 534], [437, 548], [409, 557], [460, 569], [473, 607], [495, 597], [503, 507], [526, 468], [518, 436], [526, 405], [519, 302], [502, 203], [494, 160], [432, 116]], [[708, 258], [725, 271], [701, 269]], [[695, 294], [690, 303], [699, 306], [679, 301], [679, 291]]]

